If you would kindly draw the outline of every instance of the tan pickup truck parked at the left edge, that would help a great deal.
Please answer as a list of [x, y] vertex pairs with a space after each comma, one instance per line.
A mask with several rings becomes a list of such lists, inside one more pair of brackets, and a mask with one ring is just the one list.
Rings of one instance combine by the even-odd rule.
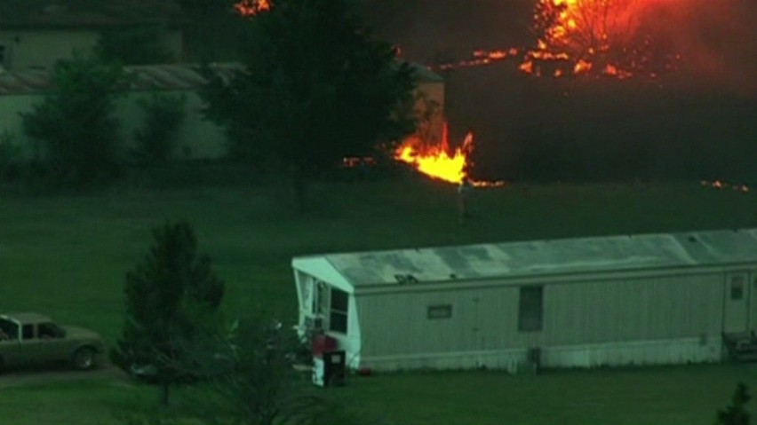
[[103, 350], [102, 338], [90, 330], [60, 327], [38, 313], [0, 314], [0, 369], [66, 362], [88, 370]]

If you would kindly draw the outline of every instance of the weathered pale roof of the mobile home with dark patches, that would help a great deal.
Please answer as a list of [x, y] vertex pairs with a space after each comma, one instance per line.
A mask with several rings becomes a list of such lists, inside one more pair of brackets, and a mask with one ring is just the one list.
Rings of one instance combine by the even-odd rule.
[[292, 260], [292, 266], [304, 272], [315, 270], [315, 264], [321, 264], [321, 272], [314, 275], [337, 274], [352, 287], [757, 264], [757, 229], [530, 240]]

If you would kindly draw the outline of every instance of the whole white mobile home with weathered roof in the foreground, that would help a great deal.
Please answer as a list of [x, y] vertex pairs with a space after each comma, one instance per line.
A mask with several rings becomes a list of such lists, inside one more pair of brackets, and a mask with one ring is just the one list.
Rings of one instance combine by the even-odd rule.
[[[757, 229], [300, 256], [299, 329], [351, 368], [720, 361], [757, 331]], [[535, 358], [536, 357], [536, 358]]]

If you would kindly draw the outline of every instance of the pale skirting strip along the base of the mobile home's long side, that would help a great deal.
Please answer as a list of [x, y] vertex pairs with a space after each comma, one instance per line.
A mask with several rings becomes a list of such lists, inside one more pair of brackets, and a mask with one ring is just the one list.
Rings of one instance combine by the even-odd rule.
[[[545, 367], [598, 367], [717, 362], [721, 343], [720, 337], [713, 337], [540, 347], [540, 363]], [[516, 373], [532, 370], [528, 352], [523, 348], [372, 356], [362, 357], [360, 367], [377, 371], [485, 367]]]

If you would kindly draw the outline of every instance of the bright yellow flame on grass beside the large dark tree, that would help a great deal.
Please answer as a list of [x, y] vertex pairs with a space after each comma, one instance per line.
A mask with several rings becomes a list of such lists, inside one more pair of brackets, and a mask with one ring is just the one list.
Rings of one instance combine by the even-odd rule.
[[445, 123], [441, 143], [428, 146], [417, 135], [411, 136], [394, 150], [394, 159], [412, 165], [426, 176], [456, 185], [461, 185], [464, 182], [474, 187], [505, 185], [505, 182], [502, 181], [474, 180], [468, 175], [468, 169], [473, 166], [469, 159], [473, 149], [473, 132], [468, 132], [462, 146], [458, 146], [454, 150], [450, 149], [448, 127]]

